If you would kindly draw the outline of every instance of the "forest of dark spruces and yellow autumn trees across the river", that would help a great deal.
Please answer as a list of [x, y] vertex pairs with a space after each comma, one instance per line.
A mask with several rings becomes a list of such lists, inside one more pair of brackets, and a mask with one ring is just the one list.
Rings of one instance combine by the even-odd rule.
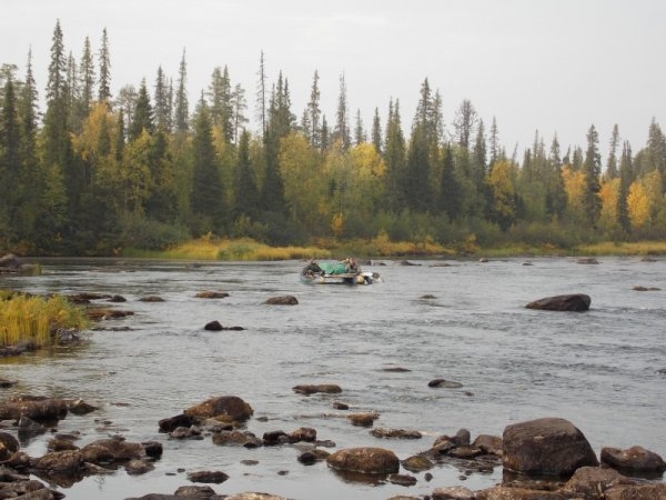
[[666, 137], [654, 119], [636, 152], [615, 126], [603, 160], [593, 124], [584, 148], [562, 151], [537, 131], [518, 158], [470, 100], [447, 127], [427, 78], [405, 133], [398, 99], [366, 129], [344, 77], [329, 122], [316, 71], [297, 118], [287, 78], [269, 82], [263, 52], [259, 67], [251, 132], [226, 67], [192, 107], [184, 52], [175, 79], [160, 67], [150, 87], [113, 97], [107, 30], [77, 60], [58, 21], [43, 113], [31, 52], [24, 76], [0, 68], [0, 249], [105, 256], [211, 236], [569, 247], [665, 233]]

